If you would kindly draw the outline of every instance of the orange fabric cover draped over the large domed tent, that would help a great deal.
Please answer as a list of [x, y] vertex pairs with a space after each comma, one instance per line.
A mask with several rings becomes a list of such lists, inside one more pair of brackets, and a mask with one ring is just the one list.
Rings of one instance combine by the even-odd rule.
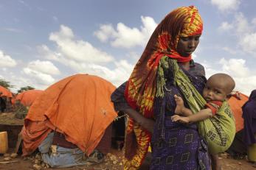
[[[76, 74], [51, 85], [35, 99], [25, 118], [21, 132], [24, 155], [30, 154], [46, 138], [46, 135], [41, 138], [42, 134], [56, 128], [66, 141], [90, 155], [117, 117], [110, 100], [114, 90], [111, 82], [88, 74]], [[30, 128], [30, 124], [47, 120], [52, 126], [44, 124], [45, 129], [41, 127], [41, 130]], [[32, 144], [35, 145], [31, 149]]]

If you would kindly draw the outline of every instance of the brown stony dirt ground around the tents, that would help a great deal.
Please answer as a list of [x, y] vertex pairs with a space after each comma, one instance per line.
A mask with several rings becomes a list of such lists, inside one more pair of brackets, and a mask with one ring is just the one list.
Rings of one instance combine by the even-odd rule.
[[[13, 113], [1, 113], [0, 114], [0, 124], [23, 124], [23, 119], [14, 118]], [[12, 149], [9, 150], [12, 153]], [[147, 160], [147, 159], [146, 159]], [[220, 155], [219, 160], [223, 170], [249, 170], [255, 169], [252, 164], [247, 162], [246, 159], [234, 160], [228, 155]], [[105, 156], [103, 163], [91, 166], [75, 166], [72, 168], [62, 168], [60, 170], [118, 170], [123, 169], [123, 152], [117, 149], [111, 149], [111, 152]], [[5, 162], [5, 163], [4, 163]], [[6, 163], [4, 160], [4, 155], [0, 155], [0, 170], [32, 170], [35, 169], [35, 157], [27, 157], [24, 159], [21, 155], [9, 160], [10, 163]], [[41, 164], [41, 163], [38, 163]], [[37, 166], [38, 167], [38, 166]], [[38, 168], [40, 169], [40, 168]], [[50, 169], [41, 167], [41, 169]], [[145, 168], [143, 170], [146, 170]], [[52, 169], [54, 170], [54, 169]]]

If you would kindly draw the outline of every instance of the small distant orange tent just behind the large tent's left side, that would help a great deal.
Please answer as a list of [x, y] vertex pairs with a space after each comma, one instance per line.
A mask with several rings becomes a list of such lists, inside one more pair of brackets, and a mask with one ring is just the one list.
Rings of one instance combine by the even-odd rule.
[[41, 90], [29, 90], [18, 93], [15, 97], [15, 101], [21, 101], [21, 104], [24, 106], [31, 106], [35, 99], [41, 95], [43, 91]]

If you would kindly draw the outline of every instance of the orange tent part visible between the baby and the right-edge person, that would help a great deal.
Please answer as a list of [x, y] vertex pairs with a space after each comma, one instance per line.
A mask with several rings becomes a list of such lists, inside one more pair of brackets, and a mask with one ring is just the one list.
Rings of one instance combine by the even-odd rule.
[[237, 92], [234, 95], [232, 95], [228, 100], [231, 110], [235, 117], [236, 132], [243, 129], [242, 106], [245, 102], [247, 102], [248, 99], [248, 96], [246, 96], [245, 94]]

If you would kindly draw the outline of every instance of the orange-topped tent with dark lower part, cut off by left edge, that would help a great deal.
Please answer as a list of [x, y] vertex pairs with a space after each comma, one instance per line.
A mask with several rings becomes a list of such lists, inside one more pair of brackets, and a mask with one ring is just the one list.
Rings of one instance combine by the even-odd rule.
[[7, 88], [0, 85], [0, 112], [12, 111], [12, 105], [10, 100], [13, 97], [13, 93]]

